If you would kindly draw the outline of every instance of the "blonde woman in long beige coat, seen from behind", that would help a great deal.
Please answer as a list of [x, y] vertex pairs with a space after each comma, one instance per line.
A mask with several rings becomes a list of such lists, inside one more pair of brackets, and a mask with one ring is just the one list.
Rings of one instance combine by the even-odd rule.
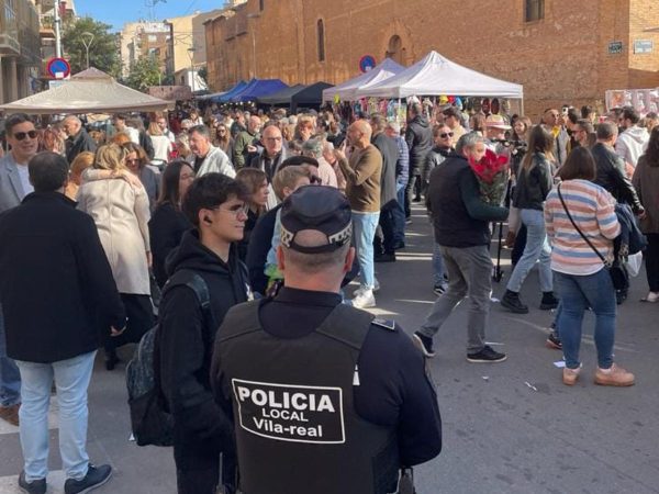
[[105, 341], [108, 370], [119, 361], [116, 347], [139, 341], [154, 324], [148, 198], [144, 187], [120, 178], [126, 175], [125, 158], [126, 151], [116, 144], [101, 146], [92, 166], [98, 171], [88, 170], [78, 191], [78, 209], [96, 222], [129, 316], [124, 334]]

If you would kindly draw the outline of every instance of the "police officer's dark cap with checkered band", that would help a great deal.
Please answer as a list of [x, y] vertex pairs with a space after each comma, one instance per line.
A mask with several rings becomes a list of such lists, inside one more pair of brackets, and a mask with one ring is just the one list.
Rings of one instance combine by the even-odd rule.
[[[302, 231], [325, 234], [327, 243], [302, 246], [295, 235]], [[303, 254], [331, 252], [353, 236], [350, 205], [334, 187], [305, 186], [289, 195], [281, 206], [281, 244]]]

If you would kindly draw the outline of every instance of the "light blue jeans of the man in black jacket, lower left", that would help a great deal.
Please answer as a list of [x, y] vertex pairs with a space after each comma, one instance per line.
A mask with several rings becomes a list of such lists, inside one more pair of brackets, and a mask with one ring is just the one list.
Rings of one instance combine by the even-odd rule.
[[67, 479], [87, 475], [87, 389], [96, 350], [53, 363], [16, 361], [21, 370], [23, 404], [21, 446], [27, 482], [48, 474], [48, 406], [53, 377], [59, 405], [59, 454]]

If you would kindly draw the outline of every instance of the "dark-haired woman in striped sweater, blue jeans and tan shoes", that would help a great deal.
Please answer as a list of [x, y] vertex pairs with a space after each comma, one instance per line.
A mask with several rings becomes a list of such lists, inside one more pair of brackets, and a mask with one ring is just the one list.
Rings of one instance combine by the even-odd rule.
[[629, 386], [634, 384], [634, 374], [613, 363], [615, 290], [608, 271], [593, 250], [595, 248], [605, 259], [613, 260], [613, 239], [621, 233], [621, 225], [613, 197], [591, 182], [595, 173], [590, 150], [576, 148], [558, 171], [562, 182], [549, 192], [545, 203], [547, 235], [552, 244], [551, 270], [562, 305], [558, 318], [566, 360], [562, 381], [573, 385], [579, 378], [581, 324], [585, 310], [592, 307], [597, 349], [595, 384]]

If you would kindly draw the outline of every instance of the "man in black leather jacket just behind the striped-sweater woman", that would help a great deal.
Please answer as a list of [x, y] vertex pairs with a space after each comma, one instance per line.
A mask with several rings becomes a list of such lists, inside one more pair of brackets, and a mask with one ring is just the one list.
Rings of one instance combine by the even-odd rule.
[[597, 165], [597, 177], [594, 182], [606, 189], [616, 201], [629, 204], [634, 214], [640, 216], [645, 210], [632, 180], [627, 177], [623, 158], [616, 155], [613, 147], [617, 134], [617, 127], [612, 122], [597, 125], [597, 143], [591, 149]]

